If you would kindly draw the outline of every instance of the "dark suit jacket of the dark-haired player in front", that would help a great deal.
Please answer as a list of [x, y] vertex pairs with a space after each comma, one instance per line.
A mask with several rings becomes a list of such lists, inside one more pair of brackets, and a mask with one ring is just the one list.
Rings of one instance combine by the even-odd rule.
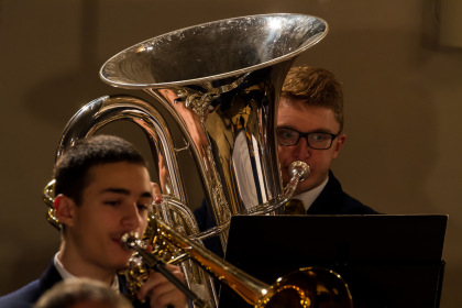
[[[129, 294], [129, 289], [125, 285], [125, 278], [121, 275], [119, 277], [119, 286], [121, 294]], [[10, 293], [6, 296], [0, 297], [0, 307], [1, 308], [32, 308], [35, 301], [48, 289], [51, 289], [55, 284], [63, 280], [59, 273], [57, 272], [54, 263], [46, 268], [42, 276], [30, 283], [22, 288]], [[134, 302], [134, 308], [144, 308], [150, 307], [148, 302], [141, 304]]]

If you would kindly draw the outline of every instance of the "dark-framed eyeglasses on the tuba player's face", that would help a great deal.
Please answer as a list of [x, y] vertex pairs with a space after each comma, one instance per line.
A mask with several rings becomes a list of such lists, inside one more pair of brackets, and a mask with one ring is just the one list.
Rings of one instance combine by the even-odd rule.
[[331, 134], [331, 133], [301, 133], [297, 132], [295, 130], [290, 129], [284, 129], [278, 128], [276, 129], [276, 136], [277, 136], [277, 143], [285, 146], [294, 146], [299, 141], [300, 138], [307, 139], [307, 144], [309, 147], [315, 150], [328, 150], [332, 146], [332, 142], [336, 138], [338, 138], [340, 132], [338, 134]]

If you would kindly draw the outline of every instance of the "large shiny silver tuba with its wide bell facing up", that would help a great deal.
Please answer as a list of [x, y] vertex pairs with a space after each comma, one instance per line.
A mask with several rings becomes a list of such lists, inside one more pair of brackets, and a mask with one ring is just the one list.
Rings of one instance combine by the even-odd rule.
[[[224, 251], [232, 216], [283, 213], [282, 206], [307, 174], [306, 167], [296, 168], [290, 184], [282, 185], [277, 102], [296, 57], [327, 32], [327, 23], [316, 16], [262, 14], [209, 22], [135, 44], [108, 59], [100, 77], [118, 88], [142, 90], [150, 100], [105, 96], [90, 101], [67, 123], [56, 156], [107, 123], [136, 123], [158, 164], [164, 194], [158, 217], [199, 245], [218, 237]], [[179, 142], [170, 119], [180, 132]], [[204, 204], [216, 226], [209, 230], [199, 230], [190, 207], [188, 175], [178, 162], [183, 152], [194, 157], [205, 188]], [[44, 197], [48, 205], [50, 186]], [[58, 227], [52, 206], [48, 220]], [[188, 286], [217, 306], [211, 278], [189, 261], [182, 266]]]

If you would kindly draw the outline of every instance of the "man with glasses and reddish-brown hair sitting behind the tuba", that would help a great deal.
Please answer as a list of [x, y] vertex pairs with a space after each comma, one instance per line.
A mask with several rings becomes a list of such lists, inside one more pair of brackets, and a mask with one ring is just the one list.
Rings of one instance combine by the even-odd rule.
[[342, 128], [343, 94], [337, 78], [322, 68], [293, 67], [279, 99], [278, 155], [284, 185], [292, 162], [309, 165], [309, 177], [295, 193], [308, 215], [377, 213], [345, 194], [330, 170], [346, 139]]

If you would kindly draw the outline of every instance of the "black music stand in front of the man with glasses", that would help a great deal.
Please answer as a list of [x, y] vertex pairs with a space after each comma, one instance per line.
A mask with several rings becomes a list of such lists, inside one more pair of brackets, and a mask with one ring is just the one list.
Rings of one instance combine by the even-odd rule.
[[[448, 216], [233, 217], [226, 260], [273, 284], [306, 266], [339, 273], [355, 308], [439, 307]], [[220, 308], [250, 307], [228, 288]]]

